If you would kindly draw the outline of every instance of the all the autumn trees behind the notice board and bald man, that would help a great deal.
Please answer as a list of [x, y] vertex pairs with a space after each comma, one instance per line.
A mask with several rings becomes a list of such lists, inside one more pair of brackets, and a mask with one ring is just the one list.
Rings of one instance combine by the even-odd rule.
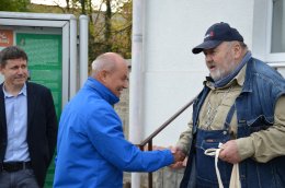
[[43, 13], [71, 13], [89, 16], [89, 63], [102, 52], [130, 58], [132, 0], [66, 0], [67, 7], [31, 4], [30, 0], [0, 0], [0, 10]]

